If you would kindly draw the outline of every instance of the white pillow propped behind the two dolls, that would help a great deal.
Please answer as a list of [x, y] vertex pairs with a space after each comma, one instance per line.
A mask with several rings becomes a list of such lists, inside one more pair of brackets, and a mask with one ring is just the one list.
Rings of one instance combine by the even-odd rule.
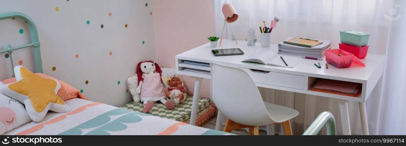
[[[166, 77], [170, 77], [176, 74], [175, 69], [171, 68], [161, 68], [162, 70], [162, 77], [165, 79]], [[183, 83], [183, 77], [179, 75], [180, 81]], [[164, 83], [167, 84], [167, 83]], [[140, 94], [135, 92], [135, 89], [138, 87], [138, 77], [137, 74], [134, 74], [127, 79], [128, 91], [131, 93], [132, 99], [135, 103], [139, 103], [141, 101]]]

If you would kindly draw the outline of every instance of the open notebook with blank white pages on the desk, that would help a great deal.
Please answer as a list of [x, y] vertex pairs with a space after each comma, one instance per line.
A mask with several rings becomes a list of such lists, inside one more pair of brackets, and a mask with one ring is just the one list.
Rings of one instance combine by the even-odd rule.
[[[283, 60], [285, 60], [286, 64], [288, 64], [287, 66], [282, 61], [280, 56], [282, 56]], [[245, 58], [242, 62], [256, 62], [256, 63], [266, 64], [266, 65], [293, 68], [301, 60], [303, 60], [303, 58], [301, 58], [300, 56], [278, 55], [278, 53], [275, 53], [273, 51], [265, 51], [265, 52], [261, 52], [256, 55], [251, 55], [251, 56]]]

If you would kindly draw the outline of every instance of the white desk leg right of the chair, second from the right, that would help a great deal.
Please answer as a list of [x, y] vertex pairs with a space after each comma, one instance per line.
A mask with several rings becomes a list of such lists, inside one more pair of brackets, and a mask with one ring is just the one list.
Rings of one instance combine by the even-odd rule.
[[342, 124], [342, 135], [351, 135], [350, 116], [348, 113], [348, 101], [340, 101], [338, 103]]

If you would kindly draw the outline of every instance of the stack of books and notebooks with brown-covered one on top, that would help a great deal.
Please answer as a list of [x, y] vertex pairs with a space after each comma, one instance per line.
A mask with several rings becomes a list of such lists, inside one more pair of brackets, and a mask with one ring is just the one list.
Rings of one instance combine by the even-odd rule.
[[324, 51], [331, 49], [331, 41], [288, 37], [285, 41], [279, 42], [278, 46], [278, 53], [322, 58]]

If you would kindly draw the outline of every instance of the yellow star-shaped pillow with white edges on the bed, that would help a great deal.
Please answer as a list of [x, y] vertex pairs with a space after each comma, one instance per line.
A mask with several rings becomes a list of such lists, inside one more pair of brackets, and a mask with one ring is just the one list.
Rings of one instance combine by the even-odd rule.
[[61, 88], [57, 80], [43, 78], [22, 66], [16, 66], [14, 73], [17, 81], [2, 85], [0, 91], [23, 103], [33, 121], [41, 121], [48, 110], [55, 112], [70, 110], [64, 100], [57, 95]]

